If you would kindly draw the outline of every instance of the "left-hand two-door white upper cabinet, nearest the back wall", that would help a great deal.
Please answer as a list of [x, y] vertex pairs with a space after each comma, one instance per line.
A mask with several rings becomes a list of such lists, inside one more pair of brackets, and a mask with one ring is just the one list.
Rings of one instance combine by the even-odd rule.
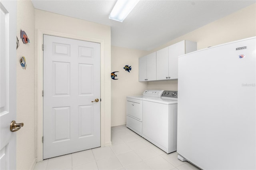
[[156, 80], [156, 52], [139, 58], [139, 81]]

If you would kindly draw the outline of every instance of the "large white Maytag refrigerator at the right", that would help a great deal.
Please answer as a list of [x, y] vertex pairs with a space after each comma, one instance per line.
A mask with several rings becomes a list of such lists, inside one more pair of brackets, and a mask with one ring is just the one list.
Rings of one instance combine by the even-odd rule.
[[204, 170], [256, 169], [256, 37], [178, 58], [177, 152]]

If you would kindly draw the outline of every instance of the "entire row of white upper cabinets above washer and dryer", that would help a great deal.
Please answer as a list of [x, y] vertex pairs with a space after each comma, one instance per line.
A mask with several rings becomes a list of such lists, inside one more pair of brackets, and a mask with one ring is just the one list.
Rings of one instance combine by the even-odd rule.
[[139, 58], [139, 81], [178, 79], [178, 56], [197, 50], [197, 43], [187, 40]]

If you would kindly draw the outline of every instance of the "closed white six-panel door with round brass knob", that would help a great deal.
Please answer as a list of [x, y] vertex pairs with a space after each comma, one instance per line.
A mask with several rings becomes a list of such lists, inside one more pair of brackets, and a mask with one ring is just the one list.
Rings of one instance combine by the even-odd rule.
[[44, 35], [43, 126], [43, 159], [100, 146], [99, 43]]

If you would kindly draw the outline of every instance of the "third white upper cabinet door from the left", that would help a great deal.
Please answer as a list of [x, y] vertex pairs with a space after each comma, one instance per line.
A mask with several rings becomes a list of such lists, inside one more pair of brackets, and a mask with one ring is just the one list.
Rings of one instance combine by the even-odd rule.
[[168, 47], [156, 51], [156, 80], [166, 80], [169, 77]]

